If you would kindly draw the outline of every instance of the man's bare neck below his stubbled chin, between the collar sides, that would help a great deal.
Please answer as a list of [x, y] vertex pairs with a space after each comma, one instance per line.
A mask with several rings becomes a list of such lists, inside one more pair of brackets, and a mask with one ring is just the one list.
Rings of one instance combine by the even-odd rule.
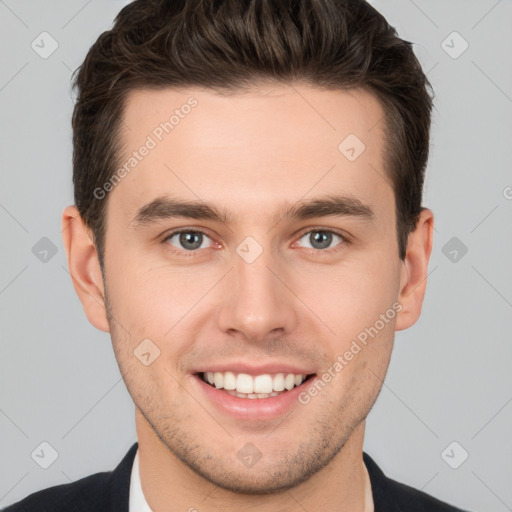
[[362, 458], [365, 422], [354, 430], [329, 464], [311, 478], [282, 492], [256, 495], [234, 493], [205, 480], [178, 459], [139, 409], [135, 410], [141, 485], [152, 510], [239, 512], [257, 508], [261, 512], [295, 512], [299, 507], [324, 512], [368, 510], [365, 494], [369, 489]]

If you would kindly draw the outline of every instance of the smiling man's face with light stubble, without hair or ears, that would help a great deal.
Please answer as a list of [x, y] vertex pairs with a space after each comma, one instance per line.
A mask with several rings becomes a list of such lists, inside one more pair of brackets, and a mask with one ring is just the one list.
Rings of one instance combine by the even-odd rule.
[[[190, 97], [197, 105], [182, 108]], [[175, 109], [179, 122], [158, 130]], [[268, 492], [305, 480], [361, 430], [376, 400], [402, 275], [383, 115], [368, 93], [306, 86], [128, 98], [122, 164], [150, 149], [108, 196], [112, 342], [138, 427], [221, 487]], [[359, 208], [284, 216], [331, 196]], [[228, 218], [172, 217], [166, 199], [208, 203]], [[176, 230], [184, 233], [171, 236]], [[233, 397], [198, 375], [231, 369], [273, 379], [290, 368], [315, 374], [302, 400], [299, 389]], [[330, 382], [308, 393], [329, 369]]]

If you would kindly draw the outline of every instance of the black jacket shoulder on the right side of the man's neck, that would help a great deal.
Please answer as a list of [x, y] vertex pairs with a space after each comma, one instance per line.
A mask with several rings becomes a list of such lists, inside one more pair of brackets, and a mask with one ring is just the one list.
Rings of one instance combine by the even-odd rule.
[[375, 510], [382, 512], [468, 512], [388, 478], [377, 463], [363, 453], [363, 460], [370, 475]]

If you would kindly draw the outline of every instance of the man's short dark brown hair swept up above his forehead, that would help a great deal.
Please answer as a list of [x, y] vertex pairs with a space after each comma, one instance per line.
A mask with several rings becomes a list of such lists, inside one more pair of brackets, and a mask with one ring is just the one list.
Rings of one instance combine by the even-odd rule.
[[106, 199], [93, 191], [119, 165], [127, 93], [187, 86], [236, 92], [265, 82], [361, 88], [381, 101], [404, 259], [422, 210], [432, 88], [412, 44], [378, 11], [364, 0], [135, 0], [90, 48], [73, 84], [75, 204], [100, 264]]

